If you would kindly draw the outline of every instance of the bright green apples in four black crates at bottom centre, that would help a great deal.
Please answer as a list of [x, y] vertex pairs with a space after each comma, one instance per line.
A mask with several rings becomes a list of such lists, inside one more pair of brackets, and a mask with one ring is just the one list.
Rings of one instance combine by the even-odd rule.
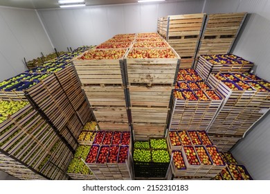
[[133, 152], [134, 162], [169, 163], [170, 155], [165, 139], [150, 139], [136, 141]]

